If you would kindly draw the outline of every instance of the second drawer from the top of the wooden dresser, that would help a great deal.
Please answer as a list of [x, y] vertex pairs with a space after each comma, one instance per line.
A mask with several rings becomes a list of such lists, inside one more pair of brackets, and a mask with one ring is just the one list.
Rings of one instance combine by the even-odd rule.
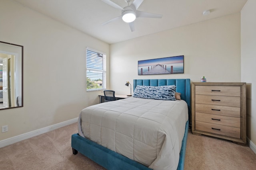
[[240, 107], [240, 97], [196, 94], [196, 103]]

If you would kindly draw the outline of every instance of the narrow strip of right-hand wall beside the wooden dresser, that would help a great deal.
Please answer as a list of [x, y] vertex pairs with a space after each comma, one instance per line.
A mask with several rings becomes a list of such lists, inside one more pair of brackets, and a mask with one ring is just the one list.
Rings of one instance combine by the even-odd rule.
[[256, 1], [241, 10], [241, 81], [247, 82], [247, 137], [256, 152]]

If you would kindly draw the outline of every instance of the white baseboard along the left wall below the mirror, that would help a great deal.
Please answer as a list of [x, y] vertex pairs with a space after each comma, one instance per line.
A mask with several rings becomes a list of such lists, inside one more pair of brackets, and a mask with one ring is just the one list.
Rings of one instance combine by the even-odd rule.
[[43, 133], [46, 133], [46, 132], [49, 132], [49, 131], [52, 131], [54, 129], [58, 129], [60, 127], [64, 127], [64, 126], [67, 126], [67, 125], [70, 125], [72, 123], [76, 123], [78, 121], [78, 117], [77, 118], [74, 118], [74, 119], [70, 119], [68, 121], [64, 121], [64, 122], [61, 122], [61, 123], [57, 123], [55, 125], [51, 125], [51, 126], [48, 126], [48, 127], [44, 127], [44, 128], [41, 128], [41, 129], [37, 129], [35, 131], [31, 131], [31, 132], [28, 132], [28, 133], [24, 133], [24, 134], [21, 134], [21, 135], [18, 135], [18, 136], [15, 136], [15, 137], [11, 137], [11, 138], [8, 138], [8, 139], [4, 139], [2, 141], [0, 141], [0, 148], [2, 147], [5, 147], [7, 145], [11, 145], [13, 143], [16, 143], [16, 142], [19, 142], [19, 141], [23, 141], [25, 139], [28, 139], [28, 138], [31, 138], [31, 137], [34, 137], [34, 136], [37, 136], [37, 135], [41, 135]]

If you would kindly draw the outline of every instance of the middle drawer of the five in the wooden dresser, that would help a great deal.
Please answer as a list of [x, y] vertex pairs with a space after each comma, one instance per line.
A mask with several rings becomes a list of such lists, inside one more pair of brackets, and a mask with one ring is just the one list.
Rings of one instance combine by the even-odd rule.
[[196, 103], [196, 112], [240, 117], [240, 107]]

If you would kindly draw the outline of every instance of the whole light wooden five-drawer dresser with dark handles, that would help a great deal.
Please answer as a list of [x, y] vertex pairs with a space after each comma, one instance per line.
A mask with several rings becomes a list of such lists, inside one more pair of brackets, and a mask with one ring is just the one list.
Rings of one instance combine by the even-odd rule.
[[192, 83], [192, 133], [246, 145], [246, 83]]

